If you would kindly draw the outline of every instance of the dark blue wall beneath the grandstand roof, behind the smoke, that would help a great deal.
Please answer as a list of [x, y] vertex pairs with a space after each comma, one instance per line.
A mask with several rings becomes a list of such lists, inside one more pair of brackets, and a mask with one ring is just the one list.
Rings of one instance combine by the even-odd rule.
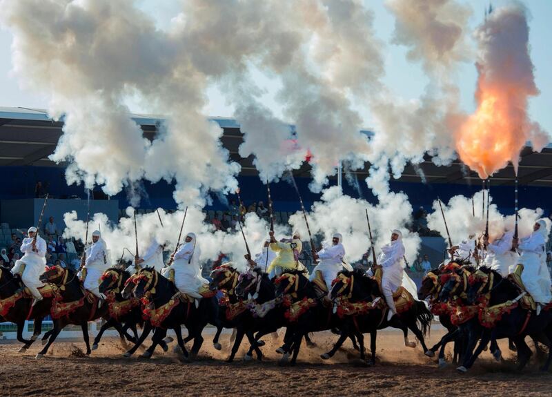
[[[86, 198], [86, 191], [83, 185], [68, 186], [65, 180], [65, 170], [59, 167], [35, 167], [35, 166], [6, 166], [0, 167], [0, 199], [14, 200], [34, 197], [34, 185], [37, 181], [47, 182], [49, 184], [48, 192], [50, 195], [58, 198], [68, 198], [72, 195]], [[249, 205], [251, 202], [263, 201], [266, 204], [266, 186], [259, 180], [258, 177], [238, 177], [239, 186], [242, 190], [242, 200], [244, 204]], [[296, 178], [299, 191], [303, 195], [303, 200], [307, 208], [311, 204], [319, 200], [320, 195], [312, 193], [308, 189], [308, 184], [311, 182], [309, 178]], [[335, 179], [331, 181], [335, 184]], [[359, 181], [362, 189], [362, 196], [369, 202], [376, 202], [375, 197], [363, 180]], [[455, 195], [471, 196], [473, 193], [480, 191], [481, 185], [469, 186], [465, 184], [422, 184], [422, 183], [406, 183], [406, 182], [391, 182], [391, 190], [398, 192], [403, 191], [408, 195], [408, 200], [416, 210], [420, 206], [426, 209], [431, 207], [433, 200], [437, 196], [441, 197], [444, 202], [448, 201]], [[162, 207], [164, 209], [176, 209], [175, 201], [172, 200], [172, 191], [174, 185], [161, 181], [157, 184], [144, 182], [142, 185], [144, 192], [141, 200], [141, 208], [155, 209]], [[288, 182], [280, 181], [270, 185], [272, 199], [275, 206], [275, 211], [296, 211], [299, 209], [299, 202], [293, 186]], [[351, 197], [358, 197], [357, 190], [350, 186], [346, 179], [343, 179], [344, 193]], [[491, 179], [491, 194], [494, 202], [499, 206], [502, 213], [513, 213], [513, 186], [493, 186]], [[544, 188], [538, 186], [520, 186], [520, 206], [527, 208], [540, 207], [546, 213], [549, 212], [549, 197], [552, 194], [552, 188]], [[106, 199], [100, 188], [95, 188], [93, 192], [95, 200]], [[225, 209], [228, 205], [226, 202], [221, 202], [216, 195], [212, 195], [213, 205], [207, 209]], [[236, 200], [232, 195], [226, 197], [228, 201]], [[121, 192], [112, 197], [118, 200], [119, 208], [124, 209], [129, 205], [126, 192]]]

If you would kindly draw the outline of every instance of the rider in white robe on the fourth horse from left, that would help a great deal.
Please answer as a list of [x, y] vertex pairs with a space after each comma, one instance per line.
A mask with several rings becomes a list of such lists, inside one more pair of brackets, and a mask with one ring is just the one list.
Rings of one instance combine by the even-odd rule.
[[175, 285], [179, 291], [197, 299], [201, 298], [201, 285], [209, 283], [201, 276], [200, 255], [201, 250], [196, 244], [195, 233], [188, 233], [185, 243], [171, 255], [174, 262], [170, 265], [170, 269], [175, 270]]

